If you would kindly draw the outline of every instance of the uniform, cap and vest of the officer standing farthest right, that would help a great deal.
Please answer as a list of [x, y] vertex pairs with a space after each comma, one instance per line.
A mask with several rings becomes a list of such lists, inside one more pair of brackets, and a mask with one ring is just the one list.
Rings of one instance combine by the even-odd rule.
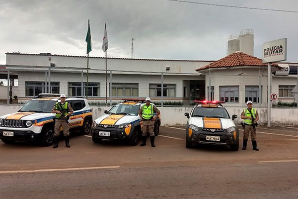
[[[252, 102], [251, 101], [247, 101], [246, 104], [249, 104]], [[245, 108], [242, 113], [241, 113], [241, 116], [244, 116], [244, 117], [253, 117], [254, 119], [258, 118], [259, 117], [259, 114], [258, 114], [258, 111], [255, 109], [255, 108]], [[250, 137], [251, 137], [251, 142], [252, 142], [252, 147], [253, 147], [253, 150], [256, 150], [258, 151], [259, 149], [257, 148], [257, 140], [256, 140], [256, 131], [254, 130], [253, 128], [253, 125], [252, 125], [252, 120], [249, 119], [249, 118], [245, 118], [243, 119], [244, 120], [244, 132], [243, 132], [243, 148], [242, 150], [245, 150], [246, 149], [246, 146], [247, 146], [247, 141], [248, 141], [248, 137], [249, 137], [249, 132], [250, 132]]]

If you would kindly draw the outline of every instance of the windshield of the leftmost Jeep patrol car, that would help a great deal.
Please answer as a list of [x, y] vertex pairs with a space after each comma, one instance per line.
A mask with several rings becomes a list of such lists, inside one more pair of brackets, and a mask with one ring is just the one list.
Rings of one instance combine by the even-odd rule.
[[50, 113], [56, 101], [52, 100], [30, 100], [19, 110], [21, 112], [46, 112]]

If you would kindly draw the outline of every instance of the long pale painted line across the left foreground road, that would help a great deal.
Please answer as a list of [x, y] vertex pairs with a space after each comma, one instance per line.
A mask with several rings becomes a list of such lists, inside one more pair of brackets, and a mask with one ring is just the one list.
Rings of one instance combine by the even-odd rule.
[[120, 166], [78, 167], [78, 168], [65, 168], [65, 169], [37, 169], [37, 170], [19, 170], [19, 171], [0, 171], [0, 174], [57, 172], [57, 171], [83, 171], [83, 170], [115, 169], [115, 168], [120, 168]]

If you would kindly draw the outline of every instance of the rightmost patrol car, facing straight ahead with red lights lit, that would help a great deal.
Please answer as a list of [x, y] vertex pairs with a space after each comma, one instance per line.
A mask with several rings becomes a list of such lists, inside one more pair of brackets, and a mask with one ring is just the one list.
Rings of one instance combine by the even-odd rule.
[[195, 144], [229, 145], [230, 150], [239, 149], [239, 129], [234, 122], [237, 115], [228, 114], [222, 101], [194, 101], [196, 105], [184, 113], [186, 124], [185, 147]]

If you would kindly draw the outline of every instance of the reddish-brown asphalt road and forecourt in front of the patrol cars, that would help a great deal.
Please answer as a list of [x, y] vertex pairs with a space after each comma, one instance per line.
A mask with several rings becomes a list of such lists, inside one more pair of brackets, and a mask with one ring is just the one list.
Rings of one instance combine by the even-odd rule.
[[71, 148], [0, 143], [0, 199], [296, 199], [298, 127], [257, 130], [260, 151], [186, 149], [181, 126], [161, 127], [156, 148], [79, 135]]

